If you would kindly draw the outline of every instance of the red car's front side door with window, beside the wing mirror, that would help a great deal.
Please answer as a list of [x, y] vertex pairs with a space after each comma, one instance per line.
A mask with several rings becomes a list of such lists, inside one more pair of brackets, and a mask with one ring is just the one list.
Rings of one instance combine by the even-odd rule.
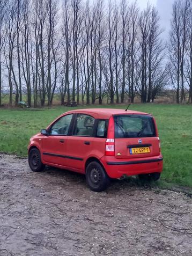
[[62, 116], [48, 130], [42, 141], [42, 159], [49, 164], [65, 166], [67, 162], [67, 138], [73, 114]]

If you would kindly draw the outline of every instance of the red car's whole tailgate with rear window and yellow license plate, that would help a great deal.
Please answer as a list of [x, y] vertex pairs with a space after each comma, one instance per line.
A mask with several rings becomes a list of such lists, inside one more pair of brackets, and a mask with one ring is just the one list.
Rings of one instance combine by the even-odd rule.
[[114, 123], [116, 158], [159, 155], [159, 140], [151, 115], [115, 115]]

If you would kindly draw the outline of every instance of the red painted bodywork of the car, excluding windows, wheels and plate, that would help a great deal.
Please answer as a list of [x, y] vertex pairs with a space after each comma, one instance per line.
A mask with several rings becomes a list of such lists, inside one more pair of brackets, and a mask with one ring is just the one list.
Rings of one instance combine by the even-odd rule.
[[[122, 109], [77, 109], [59, 116], [47, 127], [47, 130], [62, 116], [79, 113], [91, 115], [94, 119], [101, 120], [109, 120], [113, 115], [125, 114], [151, 116], [150, 114], [137, 111], [125, 112]], [[163, 156], [159, 148], [158, 130], [154, 118], [153, 122], [156, 129], [156, 136], [142, 138], [144, 144], [151, 145], [150, 153], [130, 155], [128, 147], [129, 145], [138, 144], [138, 138], [114, 138], [114, 156], [107, 156], [105, 154], [107, 137], [76, 135], [47, 136], [42, 134], [37, 134], [31, 138], [28, 151], [36, 147], [41, 153], [43, 164], [80, 173], [85, 173], [87, 160], [95, 158], [104, 166], [110, 178], [121, 178], [123, 175], [161, 172], [163, 170]]]

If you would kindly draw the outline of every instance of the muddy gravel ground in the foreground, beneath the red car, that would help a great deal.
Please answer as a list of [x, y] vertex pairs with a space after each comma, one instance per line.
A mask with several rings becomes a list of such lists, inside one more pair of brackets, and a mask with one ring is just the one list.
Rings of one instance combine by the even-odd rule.
[[103, 193], [63, 170], [0, 155], [0, 255], [192, 255], [191, 195], [115, 181]]

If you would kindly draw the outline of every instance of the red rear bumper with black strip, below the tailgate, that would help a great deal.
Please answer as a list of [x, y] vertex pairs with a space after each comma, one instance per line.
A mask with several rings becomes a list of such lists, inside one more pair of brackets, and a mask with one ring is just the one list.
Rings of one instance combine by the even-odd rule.
[[104, 156], [100, 159], [110, 178], [121, 178], [123, 175], [138, 175], [142, 173], [162, 172], [163, 156], [137, 158], [137, 159], [116, 159], [115, 157]]

